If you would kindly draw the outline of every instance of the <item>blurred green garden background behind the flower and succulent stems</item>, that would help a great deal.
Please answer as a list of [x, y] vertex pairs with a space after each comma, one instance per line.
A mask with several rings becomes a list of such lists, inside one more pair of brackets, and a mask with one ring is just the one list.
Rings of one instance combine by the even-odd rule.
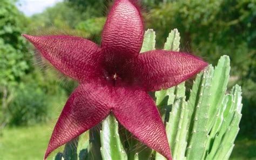
[[[76, 82], [59, 74], [21, 37], [73, 34], [100, 43], [106, 0], [0, 1], [0, 159], [42, 159]], [[145, 30], [163, 48], [173, 28], [181, 50], [215, 65], [231, 58], [229, 86], [242, 86], [242, 120], [232, 159], [256, 158], [256, 1], [142, 0]], [[51, 159], [51, 158], [49, 158]]]

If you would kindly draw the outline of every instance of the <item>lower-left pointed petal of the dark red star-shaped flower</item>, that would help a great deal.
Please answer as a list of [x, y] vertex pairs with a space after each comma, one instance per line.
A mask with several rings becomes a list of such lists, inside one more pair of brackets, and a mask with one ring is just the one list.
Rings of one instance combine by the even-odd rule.
[[45, 159], [53, 150], [97, 125], [109, 114], [109, 105], [106, 105], [109, 93], [104, 91], [100, 86], [81, 84], [71, 94], [53, 130]]

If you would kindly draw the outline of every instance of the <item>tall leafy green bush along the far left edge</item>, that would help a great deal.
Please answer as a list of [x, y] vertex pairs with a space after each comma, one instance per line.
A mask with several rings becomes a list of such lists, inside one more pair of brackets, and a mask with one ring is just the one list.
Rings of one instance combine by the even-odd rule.
[[8, 107], [14, 90], [31, 67], [25, 40], [21, 38], [27, 22], [14, 1], [1, 1], [0, 5], [0, 124], [6, 123]]

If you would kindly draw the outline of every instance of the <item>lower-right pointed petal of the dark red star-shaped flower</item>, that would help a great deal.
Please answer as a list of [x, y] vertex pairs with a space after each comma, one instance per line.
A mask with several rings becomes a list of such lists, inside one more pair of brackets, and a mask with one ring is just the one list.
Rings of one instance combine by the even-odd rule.
[[165, 127], [154, 101], [145, 91], [117, 90], [118, 103], [113, 108], [117, 120], [147, 146], [172, 159]]

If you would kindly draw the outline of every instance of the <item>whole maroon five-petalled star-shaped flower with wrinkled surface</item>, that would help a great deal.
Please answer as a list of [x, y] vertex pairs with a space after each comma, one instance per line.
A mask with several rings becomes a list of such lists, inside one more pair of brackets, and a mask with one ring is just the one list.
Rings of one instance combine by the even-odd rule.
[[45, 159], [110, 112], [137, 139], [172, 159], [164, 124], [147, 92], [177, 85], [207, 63], [167, 50], [139, 54], [143, 33], [138, 8], [129, 0], [116, 0], [107, 17], [100, 47], [69, 35], [23, 35], [53, 66], [80, 83], [60, 114]]

